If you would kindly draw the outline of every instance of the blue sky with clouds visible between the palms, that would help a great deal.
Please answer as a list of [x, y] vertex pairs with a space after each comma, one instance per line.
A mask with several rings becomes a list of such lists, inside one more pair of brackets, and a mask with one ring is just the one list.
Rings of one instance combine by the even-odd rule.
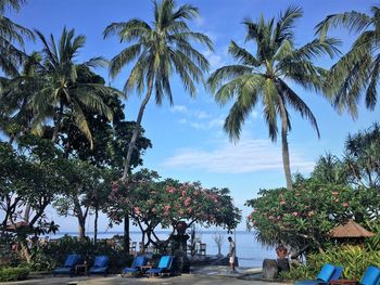
[[[304, 17], [296, 25], [296, 43], [304, 44], [314, 38], [315, 25], [326, 15], [343, 11], [365, 11], [377, 1], [364, 0], [189, 0], [200, 9], [201, 16], [192, 24], [194, 30], [206, 34], [215, 43], [215, 52], [201, 50], [207, 56], [212, 69], [231, 63], [227, 48], [231, 39], [243, 43], [243, 18], [257, 20], [262, 13], [266, 17], [278, 15], [289, 4], [303, 8]], [[144, 21], [152, 18], [150, 0], [29, 0], [18, 14], [10, 15], [15, 22], [41, 30], [45, 35], [61, 35], [62, 28], [75, 28], [84, 34], [87, 43], [78, 56], [78, 62], [102, 55], [112, 59], [124, 44], [113, 39], [103, 40], [102, 31], [112, 22], [125, 22], [132, 17]], [[334, 30], [344, 44], [345, 51], [352, 43], [352, 35], [345, 30]], [[40, 43], [27, 43], [26, 49], [40, 50]], [[252, 46], [245, 46], [252, 49]], [[321, 59], [318, 64], [329, 67], [333, 61]], [[128, 69], [111, 80], [106, 69], [97, 70], [107, 81], [122, 88]], [[142, 125], [145, 135], [151, 139], [153, 148], [144, 156], [144, 167], [159, 171], [162, 177], [181, 181], [201, 181], [204, 186], [227, 186], [236, 204], [243, 209], [246, 199], [254, 197], [259, 189], [284, 186], [280, 141], [276, 144], [268, 139], [267, 128], [258, 106], [246, 121], [239, 143], [230, 143], [223, 131], [223, 122], [229, 106], [219, 107], [202, 86], [198, 87], [197, 98], [191, 99], [173, 78], [174, 106], [164, 102], [161, 107], [150, 102]], [[344, 140], [351, 132], [370, 126], [378, 118], [379, 106], [369, 112], [362, 102], [359, 118], [353, 121], [347, 115], [338, 115], [321, 94], [294, 89], [302, 95], [316, 116], [321, 133], [318, 140], [315, 131], [299, 114], [291, 113], [292, 132], [289, 135], [291, 167], [293, 173], [309, 173], [316, 159], [326, 152], [341, 155]], [[140, 99], [130, 94], [126, 104], [126, 116], [135, 120]], [[55, 217], [53, 211], [49, 217]], [[76, 230], [76, 221], [56, 218], [61, 231]], [[105, 230], [105, 219], [100, 230]], [[118, 228], [116, 228], [118, 229]], [[244, 229], [244, 224], [240, 226]], [[90, 229], [91, 230], [91, 229]]]

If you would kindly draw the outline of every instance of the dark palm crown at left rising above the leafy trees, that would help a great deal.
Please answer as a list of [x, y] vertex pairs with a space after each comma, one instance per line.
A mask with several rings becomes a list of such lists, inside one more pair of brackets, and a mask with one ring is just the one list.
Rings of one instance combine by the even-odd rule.
[[36, 30], [43, 44], [43, 69], [41, 77], [45, 87], [34, 96], [33, 108], [36, 112], [35, 125], [40, 125], [46, 118], [54, 121], [52, 141], [55, 142], [64, 115], [69, 117], [78, 129], [87, 137], [92, 148], [92, 135], [84, 113], [85, 108], [92, 109], [112, 120], [111, 108], [103, 102], [101, 93], [112, 94], [116, 91], [99, 83], [85, 83], [78, 80], [78, 75], [91, 76], [88, 67], [105, 65], [102, 57], [94, 57], [81, 64], [75, 63], [79, 49], [85, 44], [85, 36], [75, 37], [75, 30], [64, 27], [59, 42], [50, 36], [50, 42]]

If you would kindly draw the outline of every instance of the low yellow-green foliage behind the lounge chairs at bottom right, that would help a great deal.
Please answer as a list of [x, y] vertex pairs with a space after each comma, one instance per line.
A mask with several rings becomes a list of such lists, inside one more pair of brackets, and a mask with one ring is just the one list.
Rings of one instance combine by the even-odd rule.
[[363, 246], [330, 247], [322, 254], [307, 257], [307, 265], [282, 272], [287, 280], [315, 278], [325, 263], [344, 267], [342, 278], [359, 281], [369, 265], [380, 267], [380, 250], [368, 250]]

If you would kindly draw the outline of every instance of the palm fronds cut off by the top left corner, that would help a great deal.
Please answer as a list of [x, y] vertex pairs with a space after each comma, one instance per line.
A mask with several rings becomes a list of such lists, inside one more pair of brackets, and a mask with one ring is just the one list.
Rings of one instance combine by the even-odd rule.
[[[7, 75], [16, 76], [17, 68], [27, 57], [20, 50], [24, 47], [24, 38], [34, 39], [33, 31], [12, 22], [5, 16], [7, 9], [18, 11], [25, 0], [0, 1], [0, 68]], [[20, 46], [20, 47], [17, 47]]]

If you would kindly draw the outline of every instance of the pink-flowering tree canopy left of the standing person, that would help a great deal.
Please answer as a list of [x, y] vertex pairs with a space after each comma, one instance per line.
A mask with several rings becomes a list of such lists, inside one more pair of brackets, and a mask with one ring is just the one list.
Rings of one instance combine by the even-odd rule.
[[114, 183], [107, 213], [112, 221], [122, 221], [128, 212], [143, 232], [148, 243], [156, 241], [154, 229], [172, 228], [183, 220], [188, 226], [200, 223], [235, 229], [241, 220], [240, 210], [232, 204], [228, 189], [203, 189], [199, 182], [181, 183], [159, 180], [155, 172], [142, 170], [128, 185]]

